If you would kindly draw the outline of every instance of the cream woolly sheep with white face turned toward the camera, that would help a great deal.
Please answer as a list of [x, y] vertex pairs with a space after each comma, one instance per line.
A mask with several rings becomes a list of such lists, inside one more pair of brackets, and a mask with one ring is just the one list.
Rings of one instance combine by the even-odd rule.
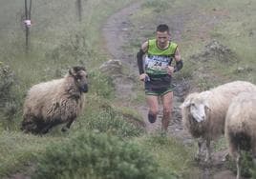
[[224, 134], [226, 110], [233, 97], [243, 91], [256, 90], [256, 87], [244, 81], [226, 83], [215, 89], [189, 94], [181, 104], [183, 125], [195, 138], [199, 138], [197, 157], [202, 153], [206, 142], [205, 162], [209, 162], [210, 142]]

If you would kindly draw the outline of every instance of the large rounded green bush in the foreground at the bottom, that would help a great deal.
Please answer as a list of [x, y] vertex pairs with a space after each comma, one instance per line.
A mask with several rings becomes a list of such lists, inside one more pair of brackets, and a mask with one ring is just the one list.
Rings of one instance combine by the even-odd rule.
[[163, 175], [158, 170], [154, 158], [138, 145], [83, 131], [48, 148], [32, 178], [156, 179]]

